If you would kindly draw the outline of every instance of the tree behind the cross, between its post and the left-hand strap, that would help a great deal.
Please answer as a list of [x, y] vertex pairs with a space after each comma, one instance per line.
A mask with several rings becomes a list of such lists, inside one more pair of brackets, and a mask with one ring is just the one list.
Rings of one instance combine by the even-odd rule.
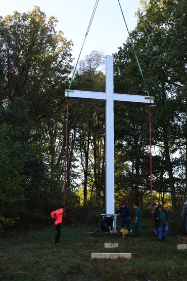
[[[72, 89], [105, 91], [105, 77], [101, 70], [99, 70], [103, 63], [104, 55], [101, 52], [92, 51], [86, 56], [79, 64], [72, 83]], [[99, 180], [101, 177], [101, 175], [99, 176], [101, 167], [99, 167], [100, 162], [98, 159], [100, 158], [100, 154], [98, 152], [102, 152], [102, 157], [104, 106], [102, 103], [93, 104], [90, 101], [74, 101], [73, 104], [75, 106], [73, 114], [77, 116], [76, 153], [80, 158], [80, 164], [83, 170], [82, 184], [84, 203], [86, 203], [88, 189], [90, 190], [89, 197], [92, 196], [94, 190], [100, 189], [101, 192], [101, 189], [103, 189], [103, 183], [101, 187], [101, 181]], [[79, 110], [77, 111], [76, 108]], [[100, 131], [102, 131], [102, 137]], [[100, 188], [98, 189], [99, 181]]]

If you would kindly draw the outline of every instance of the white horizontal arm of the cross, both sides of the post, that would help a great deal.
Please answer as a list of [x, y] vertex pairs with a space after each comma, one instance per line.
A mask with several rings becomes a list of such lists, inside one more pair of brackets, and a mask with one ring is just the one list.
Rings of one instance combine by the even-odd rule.
[[[106, 101], [107, 93], [103, 92], [90, 92], [90, 91], [78, 91], [68, 90], [65, 91], [65, 97], [76, 99], [90, 99], [98, 101]], [[140, 95], [127, 95], [127, 94], [113, 94], [114, 101], [134, 102], [134, 103], [150, 103], [150, 98]], [[154, 103], [154, 97], [151, 97], [151, 103]]]

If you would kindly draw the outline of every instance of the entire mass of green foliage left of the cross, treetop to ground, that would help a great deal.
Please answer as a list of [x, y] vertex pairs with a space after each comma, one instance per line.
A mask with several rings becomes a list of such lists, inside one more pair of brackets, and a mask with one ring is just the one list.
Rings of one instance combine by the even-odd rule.
[[[57, 112], [65, 103], [62, 92], [72, 69], [72, 42], [56, 31], [56, 24], [57, 19], [47, 20], [39, 7], [0, 18], [4, 226], [41, 223], [49, 216], [52, 198], [55, 203], [62, 198], [64, 136], [62, 142], [59, 136], [64, 116]], [[60, 148], [52, 149], [57, 142]]]

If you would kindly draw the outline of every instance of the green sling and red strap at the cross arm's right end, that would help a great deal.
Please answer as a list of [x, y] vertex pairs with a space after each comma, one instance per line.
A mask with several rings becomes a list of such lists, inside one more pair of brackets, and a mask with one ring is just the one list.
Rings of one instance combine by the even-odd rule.
[[151, 136], [151, 96], [150, 96], [150, 94], [149, 94], [148, 87], [147, 87], [147, 84], [146, 84], [146, 81], [145, 81], [145, 78], [144, 78], [144, 74], [143, 74], [141, 65], [139, 64], [139, 61], [138, 61], [138, 58], [137, 58], [137, 55], [136, 55], [136, 52], [135, 52], [135, 49], [134, 49], [134, 45], [133, 45], [133, 42], [132, 42], [132, 38], [131, 38], [130, 33], [129, 33], [129, 31], [128, 31], [128, 27], [127, 27], [127, 24], [126, 24], [126, 21], [125, 21], [125, 17], [124, 17], [124, 14], [123, 14], [123, 11], [122, 11], [122, 8], [121, 8], [121, 5], [120, 5], [119, 0], [118, 0], [118, 3], [119, 3], [119, 7], [120, 7], [120, 10], [121, 10], [121, 13], [122, 13], [122, 16], [123, 16], [125, 25], [126, 25], [126, 29], [127, 29], [129, 38], [130, 38], [131, 46], [132, 46], [132, 49], [133, 49], [133, 51], [134, 51], [134, 55], [135, 55], [136, 62], [137, 62], [138, 68], [139, 68], [139, 72], [140, 72], [141, 75], [142, 75], [142, 78], [143, 78], [143, 81], [144, 81], [144, 85], [145, 85], [147, 94], [148, 94], [148, 96], [149, 96], [149, 98], [150, 98], [150, 104], [149, 104], [149, 131], [150, 131], [150, 193], [151, 193], [151, 222], [152, 222], [152, 235], [154, 235], [153, 194], [152, 194], [152, 193], [153, 193], [153, 192], [152, 192], [152, 150], [151, 150], [151, 148], [152, 148], [152, 136]]

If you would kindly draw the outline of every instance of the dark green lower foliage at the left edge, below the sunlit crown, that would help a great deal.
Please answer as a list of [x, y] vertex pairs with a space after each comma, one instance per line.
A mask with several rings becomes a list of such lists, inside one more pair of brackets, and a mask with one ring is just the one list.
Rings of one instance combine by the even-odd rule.
[[[44, 164], [32, 148], [36, 137], [29, 116], [29, 104], [21, 98], [0, 110], [1, 227], [27, 220], [41, 208], [44, 192]], [[32, 214], [32, 215], [31, 215]]]

